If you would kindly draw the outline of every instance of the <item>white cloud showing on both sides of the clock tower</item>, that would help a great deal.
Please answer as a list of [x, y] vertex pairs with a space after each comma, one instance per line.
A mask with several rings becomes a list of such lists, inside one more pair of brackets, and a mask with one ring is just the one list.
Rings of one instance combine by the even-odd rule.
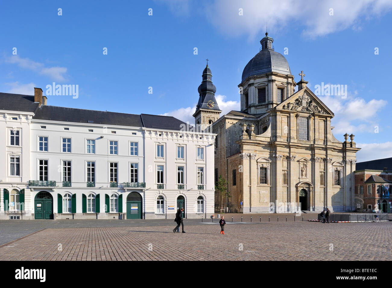
[[[226, 101], [226, 96], [224, 95], [216, 95], [215, 96], [216, 102], [219, 106], [219, 109], [222, 110], [222, 113], [220, 116], [223, 116], [227, 113], [229, 113], [231, 110], [240, 110], [240, 102], [239, 101]], [[194, 125], [194, 118], [193, 118], [193, 113], [196, 111], [196, 104], [193, 105], [193, 107], [186, 107], [186, 108], [179, 108], [176, 110], [173, 110], [171, 112], [167, 112], [165, 116], [173, 116], [175, 118], [180, 119], [181, 121], [184, 122], [189, 122], [190, 124]]]

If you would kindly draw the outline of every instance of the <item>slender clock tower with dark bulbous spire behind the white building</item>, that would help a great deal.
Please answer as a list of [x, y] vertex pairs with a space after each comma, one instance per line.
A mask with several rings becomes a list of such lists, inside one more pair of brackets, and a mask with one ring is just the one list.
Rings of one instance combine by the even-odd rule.
[[218, 107], [218, 103], [216, 103], [216, 87], [212, 84], [212, 74], [208, 63], [202, 77], [203, 81], [198, 88], [199, 101], [196, 106], [196, 112], [193, 114], [197, 130], [206, 130], [219, 119], [219, 115], [222, 112]]

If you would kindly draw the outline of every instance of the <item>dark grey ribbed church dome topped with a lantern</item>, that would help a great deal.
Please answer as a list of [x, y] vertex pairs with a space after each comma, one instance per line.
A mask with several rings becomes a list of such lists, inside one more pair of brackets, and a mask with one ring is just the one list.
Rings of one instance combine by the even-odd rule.
[[268, 72], [291, 74], [287, 59], [274, 51], [273, 42], [274, 40], [268, 37], [268, 33], [265, 33], [265, 37], [260, 41], [262, 49], [245, 66], [242, 72], [242, 81], [248, 76], [262, 75]]

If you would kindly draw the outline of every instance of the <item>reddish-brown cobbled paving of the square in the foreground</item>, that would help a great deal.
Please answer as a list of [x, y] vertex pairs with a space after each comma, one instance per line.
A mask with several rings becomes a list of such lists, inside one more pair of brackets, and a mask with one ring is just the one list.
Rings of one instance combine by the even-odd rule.
[[321, 224], [279, 219], [279, 223], [230, 224], [225, 228], [226, 235], [219, 234], [218, 224], [190, 223], [185, 226], [185, 234], [174, 234], [174, 223], [166, 222], [160, 226], [133, 223], [46, 228], [0, 246], [0, 260], [391, 259], [391, 222]]

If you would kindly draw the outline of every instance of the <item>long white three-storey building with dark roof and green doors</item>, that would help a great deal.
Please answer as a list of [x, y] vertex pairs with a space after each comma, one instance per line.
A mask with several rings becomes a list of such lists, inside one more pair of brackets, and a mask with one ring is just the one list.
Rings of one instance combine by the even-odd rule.
[[168, 116], [0, 93], [0, 219], [154, 219], [214, 211], [215, 134]]

